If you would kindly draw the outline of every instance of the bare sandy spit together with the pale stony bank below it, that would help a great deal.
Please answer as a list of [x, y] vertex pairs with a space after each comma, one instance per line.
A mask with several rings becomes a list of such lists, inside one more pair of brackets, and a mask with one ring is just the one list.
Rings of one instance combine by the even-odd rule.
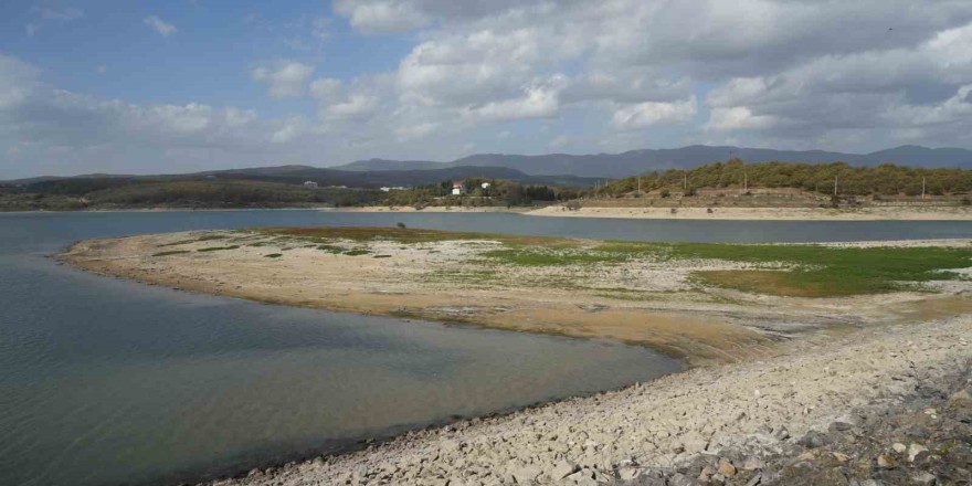
[[[687, 275], [684, 265], [643, 267], [627, 261], [624, 268], [649, 275], [644, 285], [668, 290], [638, 294], [646, 300], [633, 303], [624, 293], [605, 297], [584, 287], [564, 290], [559, 288], [560, 279], [550, 288], [529, 268], [518, 268], [501, 282], [530, 283], [531, 292], [521, 295], [517, 287], [500, 293], [483, 288], [476, 267], [461, 263], [483, 249], [496, 247], [482, 239], [370, 241], [363, 246], [357, 241], [348, 247], [368, 252], [348, 256], [335, 254], [331, 244], [308, 247], [290, 233], [267, 231], [92, 240], [72, 245], [59, 260], [99, 274], [273, 304], [621, 340], [675, 352], [686, 358], [689, 368], [616, 391], [404, 432], [356, 452], [204, 483], [212, 486], [594, 485], [658, 475], [695, 477], [700, 473], [693, 468], [705, 457], [732, 457], [740, 483], [727, 478], [720, 484], [743, 486], [754, 477], [750, 473], [769, 474], [767, 479], [776, 474], [762, 468], [742, 473], [743, 461], [758, 457], [770, 463], [773, 454], [784, 454], [814, 430], [827, 430], [828, 423], [880, 413], [897, 403], [888, 397], [904, 397], [911, 383], [939, 383], [944, 379], [942, 370], [972, 356], [972, 299], [969, 285], [961, 281], [938, 284], [938, 294], [806, 299], [747, 297], [712, 288], [699, 296], [679, 287], [679, 278]], [[293, 230], [294, 234], [307, 231], [314, 229]], [[350, 237], [355, 231], [376, 230], [331, 231]], [[410, 237], [425, 234], [401, 231]], [[515, 239], [517, 244], [591, 249], [591, 242], [582, 240]], [[970, 243], [922, 240], [821, 246], [964, 249]], [[166, 252], [171, 256], [159, 256]], [[278, 256], [267, 258], [271, 255]], [[702, 267], [741, 268], [711, 262]], [[444, 281], [421, 277], [437, 275], [436, 268], [455, 272]], [[574, 284], [590, 278], [617, 281], [616, 275], [600, 275], [601, 271], [595, 275], [546, 268]], [[683, 290], [670, 293], [678, 288]], [[659, 332], [667, 332], [664, 339]], [[658, 403], [666, 405], [659, 409]], [[785, 471], [784, 465], [779, 467]]]

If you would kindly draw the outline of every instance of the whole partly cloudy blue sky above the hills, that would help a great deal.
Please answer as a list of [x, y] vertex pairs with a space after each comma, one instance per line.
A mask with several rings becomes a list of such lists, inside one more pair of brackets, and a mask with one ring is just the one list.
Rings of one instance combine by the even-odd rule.
[[0, 179], [969, 134], [969, 0], [0, 4]]

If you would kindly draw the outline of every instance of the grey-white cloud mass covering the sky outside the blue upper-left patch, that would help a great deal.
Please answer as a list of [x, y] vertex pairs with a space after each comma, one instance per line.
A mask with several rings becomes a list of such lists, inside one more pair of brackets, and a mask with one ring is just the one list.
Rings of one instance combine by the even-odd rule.
[[[154, 146], [239, 160], [253, 150], [337, 163], [448, 159], [473, 140], [533, 152], [554, 141], [579, 151], [695, 142], [863, 151], [969, 146], [972, 133], [969, 1], [335, 0], [332, 10], [328, 21], [306, 15], [304, 28], [410, 47], [387, 71], [340, 78], [315, 77], [307, 60], [256, 64], [249, 74], [270, 97], [306, 101], [276, 119], [198, 99], [55, 94], [34, 66], [0, 57], [0, 142], [20, 160], [91, 139], [142, 144], [139, 155]], [[28, 33], [72, 17], [32, 13]], [[146, 24], [176, 32], [156, 17]]]

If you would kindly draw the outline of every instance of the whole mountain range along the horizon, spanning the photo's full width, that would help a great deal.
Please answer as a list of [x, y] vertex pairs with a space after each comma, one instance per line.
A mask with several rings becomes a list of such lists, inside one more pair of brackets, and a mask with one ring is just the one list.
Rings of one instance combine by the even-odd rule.
[[[378, 188], [381, 186], [418, 186], [451, 179], [484, 177], [532, 184], [591, 187], [601, 179], [617, 179], [655, 170], [691, 169], [706, 163], [728, 160], [731, 157], [741, 158], [747, 162], [773, 160], [782, 162], [844, 161], [852, 166], [876, 166], [890, 162], [925, 168], [972, 168], [972, 150], [962, 148], [932, 149], [920, 146], [901, 146], [869, 154], [847, 154], [825, 150], [773, 150], [693, 145], [675, 149], [642, 149], [621, 154], [549, 154], [538, 156], [478, 154], [451, 162], [369, 159], [328, 168], [277, 166], [169, 176], [87, 175], [76, 176], [72, 179], [104, 181], [113, 178], [128, 180], [231, 178], [285, 183], [313, 180], [321, 186]], [[31, 186], [63, 179], [66, 178], [39, 177], [0, 183]]]

